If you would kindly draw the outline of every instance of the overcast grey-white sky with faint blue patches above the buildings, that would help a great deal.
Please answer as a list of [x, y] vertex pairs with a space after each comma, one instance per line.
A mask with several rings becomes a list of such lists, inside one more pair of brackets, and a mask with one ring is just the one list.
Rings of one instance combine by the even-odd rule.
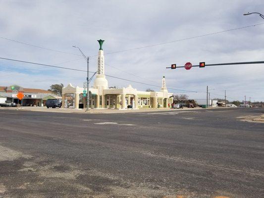
[[[105, 54], [264, 23], [263, 0], [0, 0], [0, 57], [86, 70], [86, 55]], [[36, 48], [14, 41], [38, 46]], [[53, 49], [53, 50], [48, 50]], [[68, 53], [62, 53], [68, 52]], [[76, 55], [75, 55], [76, 54]], [[105, 55], [107, 75], [161, 86], [166, 77], [171, 93], [192, 99], [264, 101], [264, 64], [165, 69], [193, 65], [264, 60], [264, 24], [149, 48]], [[90, 70], [95, 71], [96, 56]], [[158, 87], [106, 77], [109, 86], [145, 91]], [[85, 72], [0, 59], [0, 86], [49, 89], [52, 84], [81, 87]], [[93, 83], [92, 83], [93, 84]], [[179, 90], [176, 90], [179, 89]]]

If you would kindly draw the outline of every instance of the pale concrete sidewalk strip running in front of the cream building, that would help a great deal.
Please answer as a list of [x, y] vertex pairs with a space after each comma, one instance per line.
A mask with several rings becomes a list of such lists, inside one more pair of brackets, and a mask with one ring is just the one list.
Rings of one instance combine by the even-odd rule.
[[[141, 108], [141, 109], [74, 109], [74, 108], [47, 108], [47, 107], [34, 107], [34, 106], [23, 106], [20, 107], [0, 107], [0, 109], [8, 110], [20, 110], [20, 111], [39, 111], [39, 112], [57, 112], [57, 113], [135, 113], [135, 112], [154, 112], [154, 111], [178, 111], [178, 110], [199, 110], [201, 107], [195, 108], [183, 108], [183, 109], [172, 109], [172, 108]], [[208, 108], [211, 109], [211, 108]]]

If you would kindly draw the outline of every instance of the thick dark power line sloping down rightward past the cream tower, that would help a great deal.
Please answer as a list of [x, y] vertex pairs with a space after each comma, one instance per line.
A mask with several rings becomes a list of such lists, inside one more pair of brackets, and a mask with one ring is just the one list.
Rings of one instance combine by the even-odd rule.
[[[16, 61], [16, 62], [23, 62], [23, 63], [30, 63], [30, 64], [35, 64], [35, 65], [42, 65], [42, 66], [47, 66], [47, 67], [54, 67], [54, 68], [59, 68], [59, 69], [68, 69], [68, 70], [74, 70], [74, 71], [87, 72], [86, 70], [73, 69], [73, 68], [68, 68], [68, 67], [59, 67], [59, 66], [55, 66], [55, 65], [41, 64], [41, 63], [29, 62], [29, 61], [23, 61], [23, 60], [16, 60], [16, 59], [11, 59], [11, 58], [0, 57], [0, 59], [11, 60], [11, 61]], [[89, 71], [89, 72], [90, 73], [95, 73], [95, 72], [92, 72], [92, 71]], [[111, 77], [111, 78], [116, 78], [116, 79], [119, 79], [119, 80], [124, 80], [124, 81], [129, 81], [129, 82], [133, 82], [133, 83], [139, 83], [139, 84], [143, 84], [143, 85], [149, 85], [149, 86], [152, 86], [152, 87], [160, 88], [160, 86], [157, 86], [157, 85], [151, 85], [151, 84], [147, 84], [147, 83], [142, 83], [142, 82], [138, 82], [138, 81], [128, 80], [128, 79], [119, 78], [119, 77], [115, 77], [115, 76], [110, 76], [110, 75], [106, 75], [106, 74], [105, 74], [105, 76], [108, 76], [108, 77]], [[180, 89], [173, 89], [173, 88], [168, 88], [168, 89], [177, 90], [177, 91], [186, 91], [186, 93], [197, 93], [195, 91], [188, 91], [188, 90], [180, 90]]]

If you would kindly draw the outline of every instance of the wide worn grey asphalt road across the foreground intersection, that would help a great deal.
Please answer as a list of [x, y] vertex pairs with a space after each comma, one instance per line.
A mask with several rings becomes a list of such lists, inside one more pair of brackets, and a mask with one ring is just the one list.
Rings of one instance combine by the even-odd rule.
[[264, 198], [261, 113], [0, 110], [0, 197]]

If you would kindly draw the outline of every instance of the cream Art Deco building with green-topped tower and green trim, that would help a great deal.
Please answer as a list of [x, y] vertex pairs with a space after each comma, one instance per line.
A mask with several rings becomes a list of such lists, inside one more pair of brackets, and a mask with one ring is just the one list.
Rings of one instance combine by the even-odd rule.
[[[100, 43], [101, 42], [101, 43]], [[91, 97], [90, 108], [168, 108], [173, 102], [172, 93], [168, 93], [166, 80], [163, 76], [159, 92], [137, 91], [131, 85], [127, 88], [108, 88], [108, 81], [105, 76], [105, 57], [102, 49], [103, 41], [100, 40], [98, 53], [98, 73], [93, 87], [89, 88]], [[69, 84], [62, 88], [62, 108], [86, 108], [87, 97], [83, 97], [82, 87], [73, 87]]]

